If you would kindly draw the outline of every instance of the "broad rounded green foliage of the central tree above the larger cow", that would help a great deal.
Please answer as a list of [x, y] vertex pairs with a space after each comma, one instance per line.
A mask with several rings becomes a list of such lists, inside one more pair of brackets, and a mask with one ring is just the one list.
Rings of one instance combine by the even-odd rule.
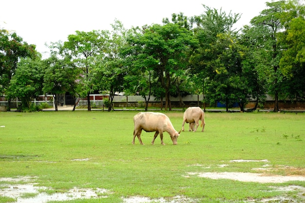
[[[127, 38], [129, 46], [122, 54], [131, 55], [128, 61], [132, 76], [125, 78], [131, 85], [143, 93], [151, 92], [153, 86], [164, 89], [165, 108], [169, 108], [172, 81], [186, 74], [189, 66], [188, 57], [197, 47], [198, 41], [190, 30], [178, 23], [166, 22], [164, 25], [153, 24], [143, 33], [135, 31]], [[135, 75], [135, 76], [133, 76]], [[153, 92], [157, 95], [159, 92]]]

